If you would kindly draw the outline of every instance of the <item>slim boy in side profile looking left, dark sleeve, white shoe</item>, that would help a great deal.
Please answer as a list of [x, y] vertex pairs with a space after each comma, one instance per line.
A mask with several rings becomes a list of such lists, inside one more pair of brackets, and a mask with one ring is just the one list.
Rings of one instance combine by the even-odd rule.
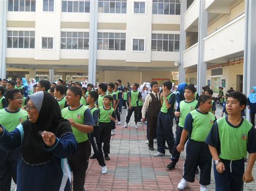
[[103, 152], [102, 152], [102, 144], [100, 143], [100, 139], [99, 139], [99, 128], [98, 128], [99, 112], [95, 106], [95, 101], [98, 100], [98, 97], [99, 95], [97, 94], [96, 91], [90, 91], [86, 98], [86, 102], [87, 104], [89, 104], [86, 107], [91, 110], [91, 114], [95, 122], [95, 126], [93, 126], [93, 132], [90, 135], [90, 141], [92, 144], [94, 154], [91, 155], [90, 159], [97, 159], [99, 165], [102, 167], [102, 174], [106, 174], [107, 167], [106, 167]]

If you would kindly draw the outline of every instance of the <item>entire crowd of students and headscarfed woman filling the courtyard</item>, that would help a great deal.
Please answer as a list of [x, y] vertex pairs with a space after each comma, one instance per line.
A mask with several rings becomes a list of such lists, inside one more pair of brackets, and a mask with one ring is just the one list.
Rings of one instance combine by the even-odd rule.
[[[229, 90], [224, 107], [226, 116], [218, 120], [214, 115], [213, 90], [205, 86], [201, 93], [199, 96], [193, 84], [174, 86], [171, 81], [141, 86], [134, 83], [126, 88], [121, 80], [93, 86], [87, 82], [66, 85], [62, 80], [50, 84], [33, 79], [28, 84], [23, 78], [17, 78], [16, 83], [3, 79], [0, 190], [10, 190], [11, 179], [17, 190], [71, 190], [71, 185], [73, 190], [84, 190], [89, 158], [97, 159], [101, 173], [107, 173], [105, 161], [110, 160], [111, 135], [115, 133], [115, 122], [121, 124], [120, 114], [126, 104], [123, 128], [129, 127], [134, 112], [134, 128], [138, 129], [138, 123], [147, 125], [149, 150], [153, 151], [157, 142], [154, 157], [169, 150], [171, 162], [166, 168], [176, 167], [186, 144], [184, 174], [178, 189], [194, 182], [199, 166], [200, 190], [207, 190], [213, 158], [216, 190], [242, 190], [244, 182], [253, 181], [256, 159], [252, 115], [256, 110], [256, 87], [248, 98]], [[246, 105], [253, 124], [242, 117]]]

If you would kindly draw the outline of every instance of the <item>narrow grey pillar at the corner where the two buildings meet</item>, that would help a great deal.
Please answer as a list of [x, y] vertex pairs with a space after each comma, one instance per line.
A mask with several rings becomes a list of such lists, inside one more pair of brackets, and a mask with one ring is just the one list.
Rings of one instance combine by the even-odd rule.
[[180, 42], [179, 42], [179, 83], [185, 82], [184, 54], [186, 49], [186, 31], [184, 30], [184, 13], [187, 10], [187, 0], [180, 0]]

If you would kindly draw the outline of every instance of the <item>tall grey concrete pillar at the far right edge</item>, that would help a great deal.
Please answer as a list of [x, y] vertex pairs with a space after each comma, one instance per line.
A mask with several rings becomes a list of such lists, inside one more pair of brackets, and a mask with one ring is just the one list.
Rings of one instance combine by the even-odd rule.
[[[245, 51], [244, 51], [244, 79], [242, 92], [248, 96], [251, 88], [256, 84], [256, 1], [245, 2]], [[246, 119], [250, 120], [249, 110], [246, 110]]]

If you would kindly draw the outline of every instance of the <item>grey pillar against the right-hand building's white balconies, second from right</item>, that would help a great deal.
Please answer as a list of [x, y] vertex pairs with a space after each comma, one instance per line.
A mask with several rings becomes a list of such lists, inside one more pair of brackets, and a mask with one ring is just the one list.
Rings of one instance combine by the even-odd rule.
[[207, 11], [205, 0], [200, 0], [198, 19], [198, 65], [197, 65], [197, 92], [200, 94], [206, 85], [207, 63], [204, 62], [204, 38], [207, 36]]

